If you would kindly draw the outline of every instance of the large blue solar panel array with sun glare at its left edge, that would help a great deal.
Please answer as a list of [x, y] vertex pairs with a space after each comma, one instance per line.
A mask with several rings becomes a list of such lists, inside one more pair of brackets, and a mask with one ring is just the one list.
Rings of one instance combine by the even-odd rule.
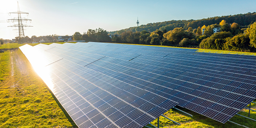
[[256, 98], [255, 56], [95, 42], [20, 49], [81, 128], [141, 128], [176, 105], [225, 123]]

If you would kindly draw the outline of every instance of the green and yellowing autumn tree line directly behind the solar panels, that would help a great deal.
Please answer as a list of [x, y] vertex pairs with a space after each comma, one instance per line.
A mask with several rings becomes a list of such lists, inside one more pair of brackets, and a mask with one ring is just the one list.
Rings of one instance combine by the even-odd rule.
[[[220, 28], [220, 32], [214, 33], [214, 28]], [[120, 35], [109, 35], [106, 30], [99, 28], [89, 29], [83, 35], [75, 32], [73, 40], [256, 52], [256, 22], [243, 28], [238, 23], [221, 20], [218, 24], [199, 26], [195, 29], [177, 27], [170, 31], [166, 29], [162, 31], [157, 29], [153, 32], [127, 31]]]

